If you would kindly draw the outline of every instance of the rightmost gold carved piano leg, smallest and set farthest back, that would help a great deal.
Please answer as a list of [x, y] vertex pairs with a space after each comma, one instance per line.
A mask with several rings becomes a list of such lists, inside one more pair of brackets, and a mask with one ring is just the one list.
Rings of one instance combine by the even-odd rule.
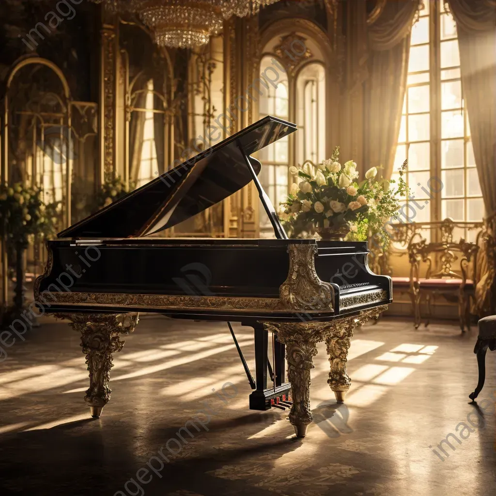
[[327, 354], [331, 371], [327, 383], [331, 386], [338, 403], [343, 403], [348, 389], [350, 389], [351, 379], [346, 372], [346, 362], [348, 361], [348, 350], [350, 349], [350, 338], [353, 336], [353, 329], [340, 333], [340, 336], [329, 336], [326, 338]]

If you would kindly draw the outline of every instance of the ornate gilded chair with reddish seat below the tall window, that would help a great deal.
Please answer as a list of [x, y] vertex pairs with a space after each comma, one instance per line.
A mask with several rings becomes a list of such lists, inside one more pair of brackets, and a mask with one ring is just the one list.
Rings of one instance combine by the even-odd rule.
[[410, 243], [410, 298], [414, 309], [415, 328], [422, 321], [421, 302], [425, 299], [429, 325], [432, 303], [437, 296], [458, 303], [458, 317], [462, 332], [470, 330], [470, 298], [476, 282], [468, 278], [473, 274], [471, 262], [479, 247], [460, 240], [459, 243], [427, 243], [425, 239]]

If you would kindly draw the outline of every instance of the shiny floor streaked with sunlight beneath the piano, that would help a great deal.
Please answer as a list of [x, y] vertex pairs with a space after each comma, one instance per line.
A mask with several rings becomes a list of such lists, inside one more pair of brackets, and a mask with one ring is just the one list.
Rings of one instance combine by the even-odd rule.
[[[252, 365], [252, 333], [235, 331]], [[315, 422], [302, 440], [287, 411], [248, 410], [225, 324], [142, 318], [116, 355], [112, 399], [93, 420], [79, 337], [47, 319], [0, 364], [0, 494], [494, 495], [496, 353], [470, 404], [476, 332], [461, 336], [456, 323], [416, 331], [391, 318], [358, 328], [341, 406], [320, 346]]]

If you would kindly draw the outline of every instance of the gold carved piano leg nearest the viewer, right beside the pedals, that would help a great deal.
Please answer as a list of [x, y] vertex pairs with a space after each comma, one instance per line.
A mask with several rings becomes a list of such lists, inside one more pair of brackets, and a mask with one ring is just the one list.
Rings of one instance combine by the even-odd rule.
[[291, 382], [293, 406], [289, 421], [297, 437], [305, 437], [313, 416], [310, 411], [310, 370], [312, 358], [317, 354], [317, 335], [307, 323], [266, 324], [268, 330], [277, 330], [277, 339], [286, 345], [288, 380]]

